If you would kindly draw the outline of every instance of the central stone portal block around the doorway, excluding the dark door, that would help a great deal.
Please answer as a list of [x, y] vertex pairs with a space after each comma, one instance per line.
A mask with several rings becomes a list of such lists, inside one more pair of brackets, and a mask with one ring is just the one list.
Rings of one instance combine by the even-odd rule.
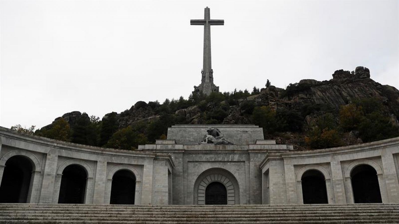
[[[292, 146], [276, 145], [274, 140], [257, 140], [257, 137], [248, 137], [250, 134], [247, 130], [258, 129], [254, 126], [242, 128], [241, 126], [222, 126], [220, 128], [223, 134], [234, 134], [236, 131], [237, 136], [246, 136], [247, 140], [250, 139], [253, 142], [247, 145], [209, 143], [185, 145], [177, 143], [178, 140], [169, 139], [179, 133], [171, 132], [171, 130], [200, 133], [206, 132], [206, 129], [207, 126], [186, 125], [178, 128], [173, 126], [169, 129], [168, 140], [157, 140], [154, 145], [140, 145], [138, 150], [172, 155], [176, 164], [172, 171], [173, 204], [203, 204], [206, 186], [213, 181], [225, 185], [227, 204], [261, 204], [262, 172], [259, 165], [268, 151], [280, 153], [292, 151]], [[260, 132], [260, 136], [263, 139], [263, 132]], [[203, 183], [202, 187], [201, 183]]]

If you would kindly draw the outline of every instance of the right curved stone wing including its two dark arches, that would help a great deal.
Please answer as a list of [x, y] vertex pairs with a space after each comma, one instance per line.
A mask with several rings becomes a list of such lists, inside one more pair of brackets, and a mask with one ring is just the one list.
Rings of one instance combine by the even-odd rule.
[[[263, 203], [397, 203], [398, 163], [399, 138], [331, 149], [271, 153], [260, 166], [263, 183], [270, 186], [284, 182], [286, 191], [272, 194], [270, 187], [263, 188]], [[283, 179], [275, 176], [281, 170]]]

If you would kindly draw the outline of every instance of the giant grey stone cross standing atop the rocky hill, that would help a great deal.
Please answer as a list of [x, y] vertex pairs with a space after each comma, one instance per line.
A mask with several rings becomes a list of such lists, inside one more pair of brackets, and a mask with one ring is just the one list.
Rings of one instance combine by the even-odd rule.
[[219, 91], [219, 87], [213, 84], [213, 70], [211, 63], [211, 25], [224, 25], [224, 20], [211, 20], [209, 8], [205, 8], [203, 20], [190, 20], [191, 25], [203, 25], [203, 67], [201, 85], [199, 90], [209, 95], [213, 91]]

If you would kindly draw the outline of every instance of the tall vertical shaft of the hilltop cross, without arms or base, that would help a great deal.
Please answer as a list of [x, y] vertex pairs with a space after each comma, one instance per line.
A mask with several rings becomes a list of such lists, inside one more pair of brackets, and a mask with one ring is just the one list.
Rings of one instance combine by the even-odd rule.
[[203, 75], [205, 75], [205, 82], [209, 82], [210, 73], [212, 69], [211, 65], [211, 24], [209, 24], [209, 20], [211, 19], [209, 8], [205, 8], [204, 13], [204, 26], [203, 26]]

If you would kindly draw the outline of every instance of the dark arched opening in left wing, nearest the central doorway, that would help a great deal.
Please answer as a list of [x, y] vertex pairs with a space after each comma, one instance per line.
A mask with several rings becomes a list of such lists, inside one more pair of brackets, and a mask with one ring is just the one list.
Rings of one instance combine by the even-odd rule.
[[134, 204], [136, 176], [131, 171], [119, 170], [112, 177], [111, 204]]

